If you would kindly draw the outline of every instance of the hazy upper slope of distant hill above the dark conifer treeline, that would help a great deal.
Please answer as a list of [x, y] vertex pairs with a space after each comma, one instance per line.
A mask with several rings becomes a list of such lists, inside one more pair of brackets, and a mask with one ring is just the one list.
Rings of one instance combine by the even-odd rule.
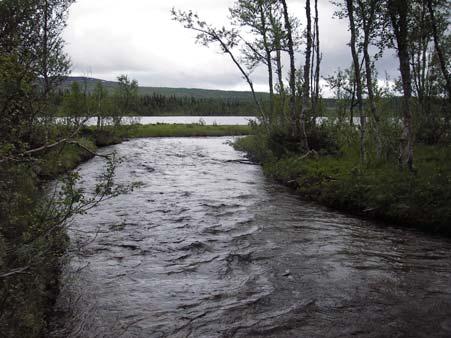
[[[86, 83], [88, 91], [94, 89], [96, 83], [100, 81], [103, 86], [109, 90], [114, 90], [118, 86], [118, 82], [105, 81], [90, 77], [70, 76], [61, 85], [63, 90], [70, 89], [73, 82], [78, 82], [80, 85]], [[198, 99], [233, 99], [238, 101], [252, 101], [252, 93], [246, 91], [225, 91], [212, 89], [198, 89], [198, 88], [168, 88], [168, 87], [139, 87], [139, 95], [159, 94], [163, 96], [175, 97], [194, 97]], [[269, 98], [268, 93], [257, 93], [262, 100]]]

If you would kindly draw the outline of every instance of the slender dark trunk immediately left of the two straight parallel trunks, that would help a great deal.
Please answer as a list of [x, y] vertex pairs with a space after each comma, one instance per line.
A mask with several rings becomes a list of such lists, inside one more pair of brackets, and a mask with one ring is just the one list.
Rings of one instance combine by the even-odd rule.
[[288, 15], [287, 2], [285, 0], [280, 0], [283, 6], [283, 16], [285, 21], [285, 29], [287, 33], [288, 40], [288, 54], [290, 56], [290, 113], [291, 113], [291, 135], [293, 137], [298, 136], [297, 128], [297, 112], [296, 112], [296, 67], [294, 59], [294, 47], [293, 47], [293, 35], [291, 32], [291, 22]]

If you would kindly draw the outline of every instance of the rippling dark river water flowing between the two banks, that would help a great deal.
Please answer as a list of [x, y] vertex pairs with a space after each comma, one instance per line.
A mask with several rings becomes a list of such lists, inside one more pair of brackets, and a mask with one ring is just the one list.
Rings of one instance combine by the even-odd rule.
[[105, 150], [142, 186], [74, 220], [54, 336], [451, 337], [449, 240], [303, 202], [229, 140]]

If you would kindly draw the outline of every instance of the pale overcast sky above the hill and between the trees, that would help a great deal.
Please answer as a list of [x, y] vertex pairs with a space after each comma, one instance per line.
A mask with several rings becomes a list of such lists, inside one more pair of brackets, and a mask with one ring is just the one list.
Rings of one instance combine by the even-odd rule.
[[[170, 10], [192, 9], [215, 25], [227, 24], [233, 0], [77, 0], [64, 32], [73, 75], [114, 80], [128, 74], [142, 86], [248, 90], [231, 60], [217, 48], [195, 44], [193, 32], [171, 20]], [[304, 0], [288, 0], [305, 22]], [[319, 0], [322, 75], [351, 63], [347, 23], [333, 19], [329, 0]], [[393, 52], [379, 68], [396, 75]], [[302, 55], [299, 55], [300, 64]], [[383, 75], [383, 74], [382, 74]], [[257, 90], [267, 91], [264, 69], [254, 72]]]

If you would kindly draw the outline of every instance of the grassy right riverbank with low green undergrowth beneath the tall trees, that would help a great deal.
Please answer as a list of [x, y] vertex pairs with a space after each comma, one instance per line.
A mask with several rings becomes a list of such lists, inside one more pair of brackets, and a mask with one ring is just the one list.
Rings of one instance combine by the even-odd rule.
[[235, 143], [268, 177], [303, 198], [359, 216], [451, 236], [451, 149], [417, 146], [415, 173], [393, 163], [361, 167], [358, 156], [277, 158], [256, 136]]

